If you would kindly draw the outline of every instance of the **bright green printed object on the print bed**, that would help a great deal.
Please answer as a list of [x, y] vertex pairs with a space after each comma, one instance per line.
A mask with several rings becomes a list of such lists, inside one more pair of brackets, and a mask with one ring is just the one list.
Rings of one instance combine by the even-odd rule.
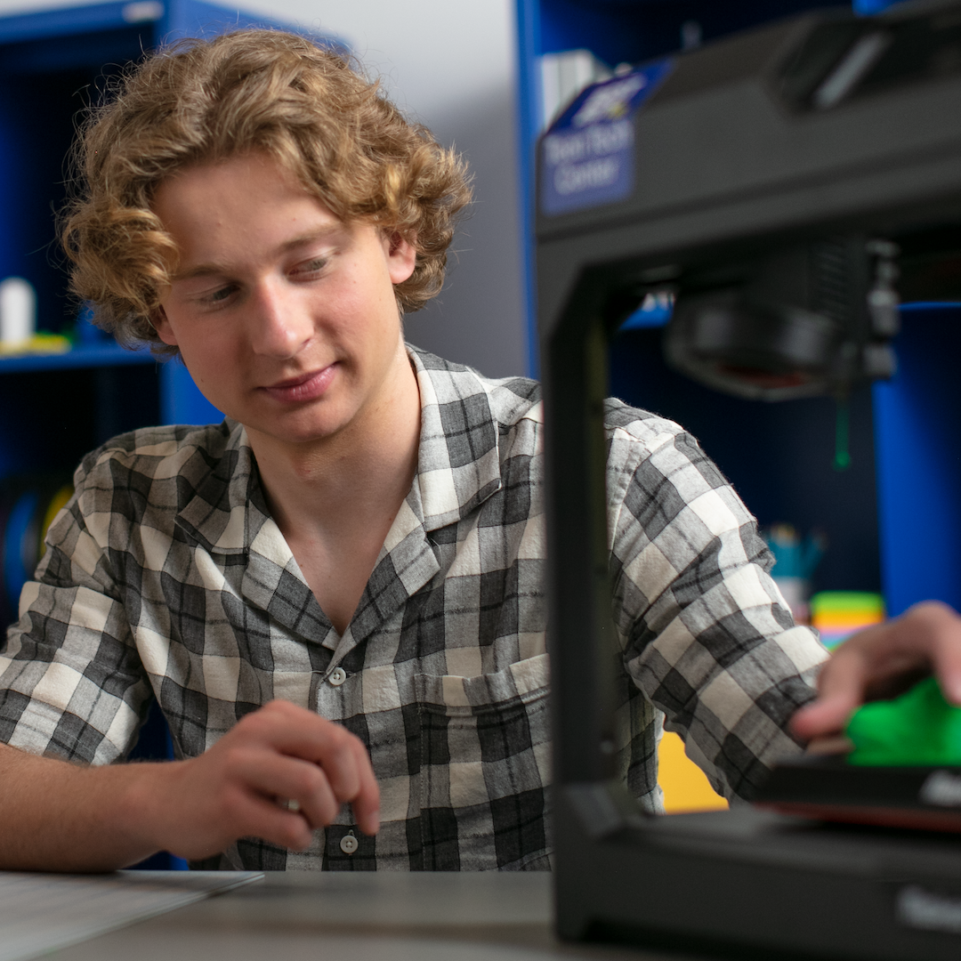
[[894, 701], [859, 707], [846, 733], [854, 745], [850, 764], [961, 766], [961, 707], [945, 700], [935, 678]]

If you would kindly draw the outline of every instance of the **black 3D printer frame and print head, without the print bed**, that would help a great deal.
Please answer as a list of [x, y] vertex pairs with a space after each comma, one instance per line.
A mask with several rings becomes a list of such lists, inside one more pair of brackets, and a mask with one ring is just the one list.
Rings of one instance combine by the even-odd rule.
[[611, 780], [601, 411], [608, 338], [648, 293], [676, 297], [675, 365], [768, 399], [890, 375], [899, 295], [961, 299], [961, 3], [642, 65], [585, 91], [538, 163], [559, 933], [956, 957], [956, 837], [646, 818]]

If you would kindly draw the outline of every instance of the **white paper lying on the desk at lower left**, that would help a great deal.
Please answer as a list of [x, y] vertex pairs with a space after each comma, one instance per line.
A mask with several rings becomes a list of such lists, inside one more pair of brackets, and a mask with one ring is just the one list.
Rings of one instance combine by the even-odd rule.
[[248, 872], [0, 872], [0, 961], [25, 961], [261, 877]]

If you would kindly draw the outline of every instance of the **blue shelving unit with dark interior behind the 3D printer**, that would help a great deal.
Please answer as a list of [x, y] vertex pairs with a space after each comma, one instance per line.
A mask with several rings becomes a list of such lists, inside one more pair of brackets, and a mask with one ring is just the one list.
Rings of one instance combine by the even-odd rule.
[[[862, 15], [891, 0], [853, 0]], [[809, 9], [850, 3], [805, 0], [518, 0], [519, 177], [528, 257], [531, 369], [534, 147], [539, 58], [586, 48], [610, 67], [676, 52], [685, 33], [703, 41]], [[685, 26], [686, 25], [686, 26]], [[656, 149], [656, 145], [651, 145]], [[829, 547], [816, 586], [883, 591], [892, 614], [924, 598], [961, 608], [961, 306], [908, 305], [895, 341], [899, 373], [850, 399], [852, 466], [833, 469], [836, 408], [829, 399], [766, 405], [689, 382], [664, 364], [651, 304], [611, 348], [611, 389], [697, 435], [762, 524], [821, 529]]]

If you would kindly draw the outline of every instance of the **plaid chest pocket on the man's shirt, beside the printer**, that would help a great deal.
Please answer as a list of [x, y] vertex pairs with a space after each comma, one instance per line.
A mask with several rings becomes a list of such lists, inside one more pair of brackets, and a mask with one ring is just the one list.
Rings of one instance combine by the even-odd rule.
[[548, 655], [503, 671], [414, 678], [427, 870], [543, 864], [551, 781]]

